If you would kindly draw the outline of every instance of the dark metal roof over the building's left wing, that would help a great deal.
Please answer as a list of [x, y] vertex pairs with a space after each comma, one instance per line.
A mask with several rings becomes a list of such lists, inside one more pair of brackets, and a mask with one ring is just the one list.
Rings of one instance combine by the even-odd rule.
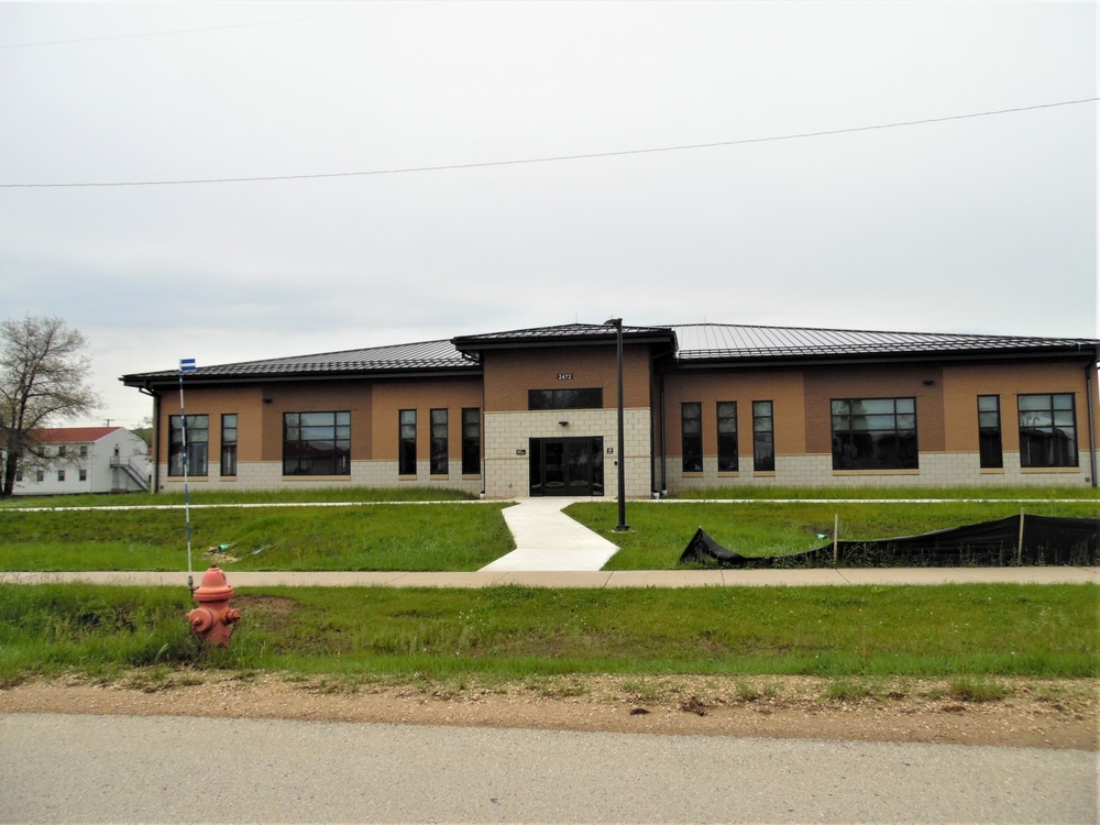
[[[199, 366], [188, 373], [196, 378], [263, 378], [299, 377], [308, 375], [395, 373], [395, 372], [451, 372], [480, 371], [475, 359], [460, 353], [450, 341], [422, 341], [420, 343], [372, 346], [363, 350], [324, 352], [316, 355], [294, 355], [264, 361], [242, 361], [235, 364]], [[163, 383], [178, 377], [175, 370], [155, 373], [123, 375], [125, 384], [140, 386]]]

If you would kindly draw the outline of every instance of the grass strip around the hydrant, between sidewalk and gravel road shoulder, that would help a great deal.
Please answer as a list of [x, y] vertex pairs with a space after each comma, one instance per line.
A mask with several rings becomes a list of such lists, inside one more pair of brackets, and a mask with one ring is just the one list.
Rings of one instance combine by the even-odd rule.
[[250, 588], [229, 649], [184, 587], [0, 583], [0, 684], [129, 668], [359, 678], [609, 674], [1096, 678], [1093, 585]]

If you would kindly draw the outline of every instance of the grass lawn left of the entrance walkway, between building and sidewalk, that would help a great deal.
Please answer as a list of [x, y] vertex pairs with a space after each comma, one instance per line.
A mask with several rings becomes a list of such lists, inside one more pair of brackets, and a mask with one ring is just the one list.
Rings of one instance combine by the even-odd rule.
[[[477, 570], [515, 548], [504, 504], [191, 510], [194, 566]], [[185, 570], [182, 509], [0, 513], [0, 570]]]

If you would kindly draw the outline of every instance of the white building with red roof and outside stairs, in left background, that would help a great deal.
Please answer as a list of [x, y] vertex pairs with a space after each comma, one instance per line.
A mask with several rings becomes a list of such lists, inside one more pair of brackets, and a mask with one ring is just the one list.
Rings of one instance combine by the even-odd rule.
[[132, 493], [150, 488], [148, 446], [122, 427], [54, 427], [37, 433], [43, 458], [24, 457], [15, 495]]

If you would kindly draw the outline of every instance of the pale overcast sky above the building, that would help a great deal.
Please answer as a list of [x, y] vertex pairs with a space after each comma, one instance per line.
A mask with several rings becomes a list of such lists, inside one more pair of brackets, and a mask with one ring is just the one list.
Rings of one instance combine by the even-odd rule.
[[118, 377], [180, 358], [618, 316], [1094, 338], [1097, 103], [1048, 105], [1097, 97], [1097, 34], [1096, 3], [0, 3], [2, 185], [387, 173], [3, 186], [0, 317], [81, 330], [86, 422], [124, 426]]

